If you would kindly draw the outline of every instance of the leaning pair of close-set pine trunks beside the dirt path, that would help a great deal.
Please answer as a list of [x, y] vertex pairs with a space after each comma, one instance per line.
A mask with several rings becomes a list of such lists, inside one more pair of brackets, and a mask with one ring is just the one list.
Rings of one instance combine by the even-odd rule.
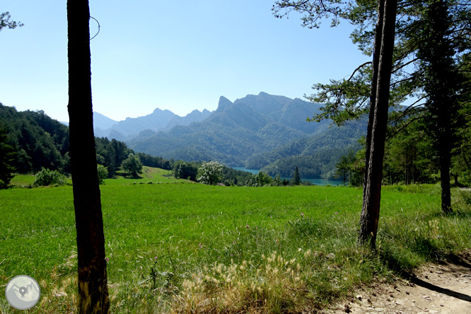
[[380, 212], [396, 9], [397, 0], [378, 1], [378, 24], [374, 50], [375, 52], [379, 50], [379, 54], [373, 55], [371, 107], [366, 139], [366, 175], [359, 232], [359, 243], [364, 244], [369, 240], [372, 249], [376, 248]]

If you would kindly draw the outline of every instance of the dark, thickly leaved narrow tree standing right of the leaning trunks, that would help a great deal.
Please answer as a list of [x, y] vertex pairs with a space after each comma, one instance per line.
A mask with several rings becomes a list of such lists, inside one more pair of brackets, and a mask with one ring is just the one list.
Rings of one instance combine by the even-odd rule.
[[451, 151], [458, 143], [457, 129], [462, 124], [458, 95], [463, 77], [460, 76], [450, 40], [451, 17], [448, 1], [429, 0], [424, 12], [424, 38], [418, 57], [424, 69], [424, 90], [427, 95], [426, 130], [431, 133], [432, 146], [440, 165], [441, 209], [450, 213]]

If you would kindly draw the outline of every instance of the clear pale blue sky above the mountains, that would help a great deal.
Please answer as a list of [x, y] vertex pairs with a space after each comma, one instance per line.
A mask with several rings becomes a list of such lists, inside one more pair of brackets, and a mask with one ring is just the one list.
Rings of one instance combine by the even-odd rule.
[[[221, 95], [303, 98], [369, 61], [346, 21], [303, 28], [299, 13], [274, 18], [274, 0], [89, 3], [93, 110], [117, 121], [216, 110]], [[24, 26], [0, 31], [0, 103], [69, 121], [66, 0], [1, 0], [6, 11]]]

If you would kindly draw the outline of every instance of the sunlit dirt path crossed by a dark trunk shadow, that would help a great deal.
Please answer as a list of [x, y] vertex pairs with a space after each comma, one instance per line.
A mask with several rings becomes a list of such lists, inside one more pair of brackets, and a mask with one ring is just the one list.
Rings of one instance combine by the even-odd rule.
[[471, 251], [446, 264], [429, 264], [395, 286], [362, 291], [328, 313], [471, 314]]

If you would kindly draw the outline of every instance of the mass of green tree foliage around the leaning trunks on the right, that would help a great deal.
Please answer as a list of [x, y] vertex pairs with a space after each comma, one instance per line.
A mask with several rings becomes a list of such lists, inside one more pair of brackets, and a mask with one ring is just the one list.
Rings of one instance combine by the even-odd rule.
[[[322, 17], [345, 18], [356, 25], [351, 33], [353, 42], [371, 57], [377, 7], [376, 1], [344, 5], [336, 1], [322, 2], [322, 5], [317, 0], [277, 1], [274, 13], [281, 17], [298, 11], [304, 14], [303, 25], [310, 27], [317, 27]], [[285, 13], [281, 13], [284, 10]], [[455, 158], [452, 172], [455, 183], [458, 184], [460, 176], [466, 182], [469, 153], [460, 151], [468, 151], [463, 142], [467, 141], [464, 134], [469, 132], [470, 125], [469, 96], [465, 91], [470, 85], [471, 45], [462, 30], [467, 28], [470, 8], [463, 1], [419, 1], [400, 5], [397, 10], [390, 84], [390, 106], [395, 110], [390, 110], [390, 138], [405, 129], [409, 131], [402, 138], [396, 136], [390, 141], [383, 178], [390, 184], [434, 182], [440, 176], [436, 167], [438, 161], [448, 160], [447, 154], [451, 152], [460, 154]], [[315, 93], [308, 99], [325, 105], [312, 120], [332, 119], [342, 125], [348, 120], [361, 119], [368, 112], [370, 88], [371, 62], [359, 65], [349, 79], [315, 84]], [[400, 106], [405, 103], [407, 106]], [[467, 122], [463, 122], [464, 118]], [[417, 124], [407, 127], [417, 120], [424, 120], [425, 124], [419, 128]], [[448, 173], [445, 168], [442, 172]], [[443, 177], [448, 180], [448, 176]]]

